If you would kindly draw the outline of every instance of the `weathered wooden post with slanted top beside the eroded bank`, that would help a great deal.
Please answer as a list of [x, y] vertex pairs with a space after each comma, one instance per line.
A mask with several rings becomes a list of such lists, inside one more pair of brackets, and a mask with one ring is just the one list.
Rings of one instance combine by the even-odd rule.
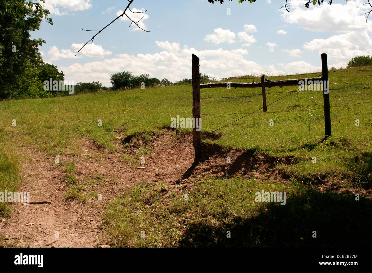
[[192, 117], [197, 123], [198, 118], [199, 131], [196, 130], [195, 124], [192, 128], [192, 142], [195, 150], [194, 162], [198, 163], [200, 159], [200, 148], [202, 146], [201, 109], [200, 109], [200, 74], [199, 58], [192, 54]]

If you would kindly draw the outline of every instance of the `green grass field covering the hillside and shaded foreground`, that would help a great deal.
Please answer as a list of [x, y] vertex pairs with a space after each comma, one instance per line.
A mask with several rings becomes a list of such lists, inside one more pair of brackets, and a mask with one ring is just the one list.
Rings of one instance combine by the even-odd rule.
[[[268, 79], [310, 78], [318, 75], [320, 73]], [[346, 232], [351, 236], [345, 239], [347, 244], [353, 245], [350, 238], [362, 240], [363, 236], [367, 236], [366, 242], [370, 241], [371, 235], [367, 231], [371, 227], [371, 202], [363, 198], [362, 192], [369, 190], [372, 181], [372, 104], [357, 103], [372, 101], [372, 89], [355, 88], [371, 88], [371, 76], [372, 71], [337, 71], [329, 74], [332, 137], [323, 143], [320, 143], [324, 136], [322, 91], [298, 91], [288, 95], [269, 105], [267, 113], [253, 113], [218, 130], [222, 134], [221, 138], [208, 140], [221, 146], [252, 149], [267, 155], [308, 158], [291, 166], [280, 166], [293, 176], [291, 183], [286, 185], [288, 192], [292, 193], [287, 201], [289, 205], [261, 205], [252, 201], [251, 195], [256, 189], [279, 189], [282, 187], [280, 184], [268, 185], [262, 181], [241, 178], [206, 178], [195, 182], [194, 194], [188, 203], [173, 198], [167, 201], [171, 205], [159, 212], [161, 215], [155, 215], [158, 212], [154, 212], [152, 207], [143, 206], [141, 214], [133, 214], [132, 211], [137, 210], [146, 198], [154, 198], [151, 192], [160, 191], [154, 189], [151, 183], [144, 182], [128, 196], [118, 196], [118, 200], [108, 207], [103, 228], [113, 245], [336, 246], [337, 236]], [[244, 82], [243, 79], [235, 81]], [[336, 90], [341, 88], [347, 89]], [[296, 88], [266, 89], [267, 104], [288, 94], [270, 93], [291, 90]], [[202, 89], [201, 97], [249, 96], [260, 92], [260, 88]], [[357, 105], [336, 107], [346, 104]], [[202, 114], [250, 113], [260, 107], [260, 95], [208, 98], [201, 101]], [[320, 109], [294, 111], [315, 108]], [[281, 111], [288, 112], [270, 113]], [[118, 135], [125, 137], [138, 131], [159, 131], [161, 127], [170, 126], [170, 118], [177, 115], [192, 117], [191, 85], [1, 101], [0, 191], [19, 188], [19, 162], [26, 158], [23, 154], [25, 147], [53, 156], [73, 155], [80, 151], [76, 140], [88, 137], [109, 152], [115, 150], [113, 143]], [[202, 116], [202, 131], [214, 131], [244, 115]], [[12, 126], [13, 120], [16, 126]], [[102, 127], [97, 126], [98, 120], [102, 120]], [[269, 125], [270, 120], [273, 120], [273, 126]], [[356, 120], [359, 120], [359, 126], [356, 126]], [[191, 128], [180, 130], [191, 131]], [[316, 164], [310, 160], [314, 156], [317, 158]], [[340, 187], [360, 192], [360, 204], [355, 204], [353, 195], [321, 193], [303, 183], [311, 183], [317, 178], [327, 178]], [[211, 190], [211, 183], [220, 189]], [[158, 198], [154, 200], [153, 206], [163, 203], [164, 200]], [[280, 210], [280, 207], [285, 207], [285, 210]], [[0, 204], [3, 216], [9, 215], [10, 209], [6, 204]], [[272, 213], [267, 213], [265, 209]], [[145, 213], [157, 221], [144, 221], [142, 214]], [[344, 218], [341, 221], [337, 217]], [[296, 219], [298, 221], [294, 224]], [[357, 220], [356, 226], [350, 224], [352, 219]], [[280, 221], [283, 223], [280, 227], [273, 227]], [[310, 222], [315, 223], [319, 230], [329, 231], [326, 240], [321, 243], [310, 241]], [[342, 228], [330, 232], [341, 224], [344, 225]], [[137, 236], [139, 227], [136, 225], [151, 225], [154, 230], [151, 236], [142, 240]], [[227, 230], [231, 230], [232, 234], [244, 233], [244, 236], [226, 241], [216, 235], [226, 234]], [[287, 237], [291, 239], [287, 241]], [[342, 243], [342, 239], [339, 240]]]

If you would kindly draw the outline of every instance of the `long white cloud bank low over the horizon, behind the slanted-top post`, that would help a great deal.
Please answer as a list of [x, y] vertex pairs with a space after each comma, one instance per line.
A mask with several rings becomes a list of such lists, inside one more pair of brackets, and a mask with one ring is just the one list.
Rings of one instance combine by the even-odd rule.
[[[222, 48], [206, 50], [184, 48], [181, 50], [179, 43], [169, 41], [156, 41], [155, 45], [162, 51], [137, 55], [124, 53], [109, 59], [106, 58], [85, 64], [75, 63], [59, 68], [65, 73], [65, 78], [69, 80], [77, 82], [91, 82], [94, 80], [100, 81], [106, 86], [111, 85], [109, 81], [110, 75], [120, 71], [132, 71], [134, 75], [148, 73], [150, 77], [168, 78], [173, 82], [183, 78], [190, 78], [192, 53], [200, 58], [201, 72], [211, 77], [261, 74], [274, 76], [294, 72], [312, 72], [313, 69], [316, 71], [320, 69], [303, 61], [291, 62], [286, 65], [279, 64], [280, 69], [277, 69], [272, 64], [263, 66], [251, 61], [247, 49], [243, 48], [232, 50]], [[66, 53], [58, 52], [60, 55]]]

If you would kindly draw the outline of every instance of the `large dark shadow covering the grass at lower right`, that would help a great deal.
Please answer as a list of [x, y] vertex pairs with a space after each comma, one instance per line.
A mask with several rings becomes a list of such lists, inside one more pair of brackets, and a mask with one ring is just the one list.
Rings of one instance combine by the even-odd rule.
[[[180, 247], [370, 247], [372, 201], [307, 189], [285, 205], [262, 203], [252, 217], [190, 224]], [[219, 222], [226, 222], [216, 219]], [[227, 231], [231, 238], [227, 238]], [[313, 238], [316, 231], [316, 238]]]

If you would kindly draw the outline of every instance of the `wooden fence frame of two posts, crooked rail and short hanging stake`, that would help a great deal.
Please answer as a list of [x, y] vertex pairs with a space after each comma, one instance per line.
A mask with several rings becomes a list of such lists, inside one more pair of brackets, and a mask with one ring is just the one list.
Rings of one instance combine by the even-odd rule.
[[[280, 87], [283, 86], [295, 86], [300, 85], [300, 82], [309, 82], [309, 84], [322, 84], [323, 85], [323, 103], [324, 103], [324, 127], [325, 135], [324, 140], [332, 135], [331, 133], [331, 107], [329, 100], [329, 82], [328, 82], [328, 64], [327, 54], [321, 55], [322, 60], [322, 77], [306, 78], [306, 79], [279, 79], [279, 80], [268, 80], [261, 77], [261, 82], [215, 82], [208, 84], [200, 84], [200, 73], [199, 73], [199, 58], [192, 54], [192, 116], [193, 118], [201, 119], [201, 105], [200, 105], [200, 90], [203, 88], [262, 88], [262, 100], [263, 100], [263, 111], [266, 112], [266, 90], [265, 88]], [[199, 123], [201, 124], [201, 123]], [[194, 162], [198, 163], [200, 160], [200, 151], [202, 147], [202, 133], [201, 130], [197, 131], [196, 126], [192, 129], [193, 146], [195, 149]]]

